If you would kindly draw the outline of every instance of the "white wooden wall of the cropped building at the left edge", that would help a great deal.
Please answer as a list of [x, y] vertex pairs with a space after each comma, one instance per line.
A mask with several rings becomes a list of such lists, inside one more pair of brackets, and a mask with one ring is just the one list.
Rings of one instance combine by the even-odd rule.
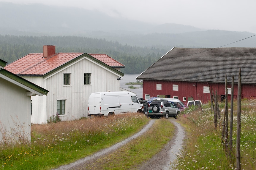
[[27, 90], [0, 78], [0, 141], [23, 136], [30, 141], [30, 105], [31, 98], [26, 96]]

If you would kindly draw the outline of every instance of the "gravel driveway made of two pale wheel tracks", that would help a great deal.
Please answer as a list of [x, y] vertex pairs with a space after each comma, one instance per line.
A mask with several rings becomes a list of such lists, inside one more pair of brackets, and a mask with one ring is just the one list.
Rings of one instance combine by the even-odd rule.
[[[171, 169], [170, 162], [174, 161], [176, 159], [176, 153], [179, 152], [179, 150], [182, 147], [183, 139], [185, 137], [185, 132], [182, 126], [176, 122], [176, 119], [169, 119], [175, 126], [176, 130], [174, 132], [174, 137], [170, 142], [165, 146], [165, 148], [162, 149], [160, 153], [155, 155], [153, 158], [151, 158], [149, 161], [144, 163], [142, 166], [140, 166], [138, 169], [140, 170], [169, 170]], [[143, 133], [147, 131], [155, 122], [155, 119], [151, 119], [149, 123], [143, 127], [143, 129], [140, 130], [140, 132], [136, 133], [135, 135], [111, 146], [110, 148], [103, 149], [91, 156], [82, 158], [74, 163], [70, 163], [68, 165], [60, 166], [57, 169], [54, 170], [80, 170], [84, 169], [87, 163], [92, 163], [93, 160], [96, 158], [98, 159], [100, 156], [104, 156], [105, 154], [108, 154], [112, 152], [113, 150], [116, 150], [120, 148], [122, 145], [125, 145], [126, 143], [130, 142], [131, 140], [135, 139], [136, 137], [139, 137]], [[164, 158], [164, 159], [163, 159]]]

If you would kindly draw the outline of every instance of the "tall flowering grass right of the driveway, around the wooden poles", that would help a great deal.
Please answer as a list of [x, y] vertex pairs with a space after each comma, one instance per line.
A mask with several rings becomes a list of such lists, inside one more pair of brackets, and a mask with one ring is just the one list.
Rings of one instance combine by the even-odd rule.
[[[186, 127], [184, 150], [177, 154], [174, 169], [235, 169], [236, 168], [236, 109], [234, 101], [233, 151], [225, 152], [221, 142], [224, 112], [214, 129], [214, 114], [210, 105], [203, 105], [203, 112], [190, 108], [178, 120]], [[220, 110], [224, 103], [220, 103]], [[229, 120], [230, 121], [230, 120]], [[241, 104], [241, 169], [256, 169], [256, 100], [244, 100]]]

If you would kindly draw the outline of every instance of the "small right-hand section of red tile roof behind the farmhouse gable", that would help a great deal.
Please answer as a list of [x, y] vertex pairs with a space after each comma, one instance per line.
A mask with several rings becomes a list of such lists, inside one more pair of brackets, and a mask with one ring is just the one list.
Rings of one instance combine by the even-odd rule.
[[111, 58], [107, 54], [89, 54], [90, 56], [93, 56], [94, 58], [102, 61], [105, 64], [108, 64], [111, 67], [116, 68], [124, 68], [124, 64], [119, 63], [115, 59]]

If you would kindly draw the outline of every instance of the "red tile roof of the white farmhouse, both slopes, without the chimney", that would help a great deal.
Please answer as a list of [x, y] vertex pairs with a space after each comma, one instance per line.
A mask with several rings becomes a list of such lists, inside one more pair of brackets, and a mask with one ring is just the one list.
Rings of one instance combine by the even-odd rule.
[[[4, 69], [17, 75], [44, 75], [82, 54], [84, 53], [56, 53], [44, 58], [43, 53], [33, 53], [8, 64]], [[91, 54], [91, 56], [108, 64], [110, 67], [124, 67], [123, 64], [106, 54]]]

